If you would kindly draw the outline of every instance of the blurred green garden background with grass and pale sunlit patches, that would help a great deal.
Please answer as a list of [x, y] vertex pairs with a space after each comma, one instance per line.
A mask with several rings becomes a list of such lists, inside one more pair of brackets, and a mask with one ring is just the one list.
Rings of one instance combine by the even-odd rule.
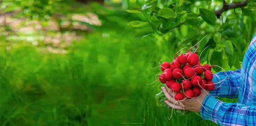
[[156, 106], [162, 84], [147, 84], [186, 45], [134, 39], [137, 2], [0, 0], [0, 125], [215, 126]]

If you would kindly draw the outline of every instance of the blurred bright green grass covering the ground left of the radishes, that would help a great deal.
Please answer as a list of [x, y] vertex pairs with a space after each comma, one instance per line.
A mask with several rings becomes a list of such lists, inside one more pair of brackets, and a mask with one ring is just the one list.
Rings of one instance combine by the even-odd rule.
[[[215, 126], [195, 113], [180, 117], [155, 104], [159, 60], [174, 52], [161, 38], [95, 31], [68, 54], [1, 41], [1, 126]], [[104, 32], [104, 33], [105, 33]], [[151, 66], [150, 66], [151, 64]], [[231, 100], [234, 101], [234, 100]]]

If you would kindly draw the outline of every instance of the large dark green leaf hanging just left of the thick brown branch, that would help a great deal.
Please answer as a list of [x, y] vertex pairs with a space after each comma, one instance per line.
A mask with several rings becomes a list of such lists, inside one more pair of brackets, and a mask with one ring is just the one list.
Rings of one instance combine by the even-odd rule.
[[202, 19], [210, 25], [214, 25], [214, 23], [216, 22], [216, 16], [213, 13], [213, 11], [209, 11], [207, 9], [199, 9], [200, 12], [200, 16], [202, 17]]

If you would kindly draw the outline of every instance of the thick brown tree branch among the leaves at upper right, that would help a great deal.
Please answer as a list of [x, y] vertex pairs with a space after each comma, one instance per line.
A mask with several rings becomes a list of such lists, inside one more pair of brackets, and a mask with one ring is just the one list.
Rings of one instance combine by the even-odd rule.
[[234, 2], [234, 3], [231, 3], [231, 4], [227, 4], [227, 2], [225, 0], [222, 0], [222, 1], [223, 1], [223, 7], [221, 9], [216, 10], [216, 11], [213, 11], [217, 18], [220, 18], [220, 15], [223, 12], [228, 11], [230, 9], [235, 9], [235, 8], [240, 7], [243, 10], [244, 7], [246, 6], [248, 0], [243, 0], [241, 2]]

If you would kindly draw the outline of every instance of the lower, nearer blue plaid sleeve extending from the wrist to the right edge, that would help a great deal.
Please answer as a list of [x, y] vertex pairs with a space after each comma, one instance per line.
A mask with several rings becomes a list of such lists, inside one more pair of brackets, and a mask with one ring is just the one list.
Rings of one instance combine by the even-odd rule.
[[204, 98], [201, 117], [221, 126], [255, 126], [256, 106], [227, 103], [209, 95]]

